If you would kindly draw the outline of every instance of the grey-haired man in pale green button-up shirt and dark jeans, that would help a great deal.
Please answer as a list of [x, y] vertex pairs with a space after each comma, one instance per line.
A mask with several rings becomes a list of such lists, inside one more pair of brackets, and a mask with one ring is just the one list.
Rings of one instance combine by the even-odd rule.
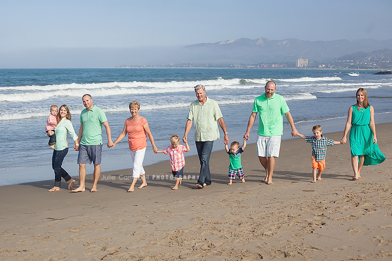
[[226, 145], [229, 143], [229, 136], [218, 103], [205, 95], [205, 88], [201, 84], [196, 85], [195, 93], [197, 100], [189, 106], [188, 120], [182, 141], [187, 143], [187, 136], [194, 121], [196, 149], [200, 160], [200, 175], [196, 187], [202, 189], [204, 186], [211, 184], [211, 151], [214, 141], [220, 138], [217, 120], [224, 133], [223, 143]]

